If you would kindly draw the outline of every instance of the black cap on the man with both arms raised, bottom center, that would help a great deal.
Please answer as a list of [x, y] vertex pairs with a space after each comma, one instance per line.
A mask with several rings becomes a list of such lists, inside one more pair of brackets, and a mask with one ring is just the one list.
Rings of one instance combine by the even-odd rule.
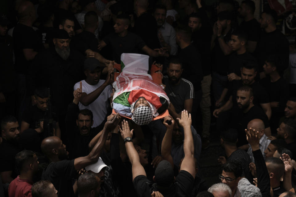
[[174, 181], [174, 169], [171, 163], [167, 160], [159, 162], [154, 176], [158, 187], [170, 187]]

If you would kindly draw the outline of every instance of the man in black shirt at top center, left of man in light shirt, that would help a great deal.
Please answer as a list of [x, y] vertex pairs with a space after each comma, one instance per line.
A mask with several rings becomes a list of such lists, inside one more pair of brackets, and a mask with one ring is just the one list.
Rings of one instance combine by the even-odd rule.
[[157, 37], [157, 22], [155, 18], [148, 13], [148, 0], [135, 0], [134, 11], [137, 18], [131, 23], [132, 31], [139, 35], [146, 45], [151, 49], [159, 48], [159, 40]]

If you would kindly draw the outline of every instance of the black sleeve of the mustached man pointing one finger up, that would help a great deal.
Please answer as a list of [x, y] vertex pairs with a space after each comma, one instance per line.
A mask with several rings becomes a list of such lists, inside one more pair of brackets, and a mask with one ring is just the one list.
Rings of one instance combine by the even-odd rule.
[[73, 132], [76, 131], [76, 120], [77, 114], [79, 113], [79, 107], [75, 103], [68, 105], [68, 110], [66, 114], [66, 135], [68, 139], [74, 138]]

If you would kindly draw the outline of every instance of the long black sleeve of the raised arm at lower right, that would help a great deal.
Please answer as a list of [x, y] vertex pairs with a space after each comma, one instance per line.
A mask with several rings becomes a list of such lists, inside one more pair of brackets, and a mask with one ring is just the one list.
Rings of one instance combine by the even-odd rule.
[[267, 167], [263, 158], [263, 155], [259, 150], [253, 151], [253, 157], [255, 160], [258, 188], [261, 191], [262, 197], [270, 196], [270, 178], [267, 171]]

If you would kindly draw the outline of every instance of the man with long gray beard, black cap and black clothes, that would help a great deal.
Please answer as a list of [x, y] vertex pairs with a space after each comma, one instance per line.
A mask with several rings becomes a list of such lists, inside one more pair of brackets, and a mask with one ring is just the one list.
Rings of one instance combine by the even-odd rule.
[[84, 57], [70, 50], [70, 41], [67, 31], [56, 30], [53, 38], [55, 47], [36, 55], [27, 79], [29, 95], [34, 95], [36, 87], [50, 88], [51, 103], [60, 110], [60, 123], [64, 123], [68, 104], [73, 99], [73, 86], [84, 78]]

